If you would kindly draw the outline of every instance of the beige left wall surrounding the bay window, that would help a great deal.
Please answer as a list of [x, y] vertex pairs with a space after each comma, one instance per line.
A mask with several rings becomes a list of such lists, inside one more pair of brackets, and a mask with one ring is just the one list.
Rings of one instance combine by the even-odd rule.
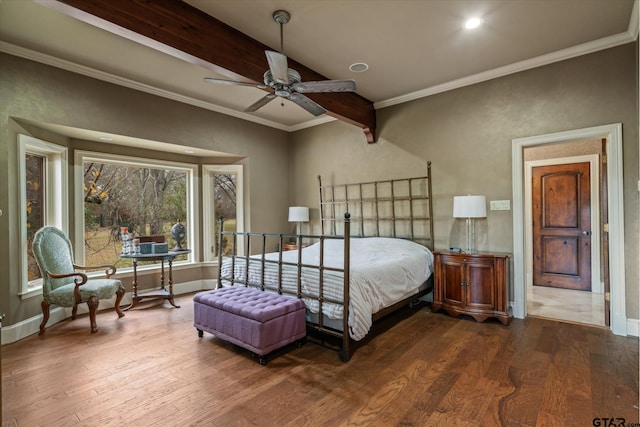
[[[41, 313], [40, 298], [22, 300], [18, 206], [17, 133], [31, 134], [73, 149], [117, 152], [198, 163], [188, 156], [154, 153], [108, 144], [87, 144], [42, 131], [38, 123], [126, 135], [232, 153], [245, 158], [245, 220], [248, 227], [286, 227], [289, 204], [288, 135], [279, 130], [159, 98], [11, 55], [0, 55], [0, 313], [3, 326]], [[24, 124], [24, 121], [28, 124]], [[215, 159], [209, 159], [215, 160]], [[70, 170], [73, 182], [73, 170]], [[70, 201], [73, 212], [73, 200]], [[273, 206], [283, 206], [282, 210]], [[73, 216], [71, 217], [73, 224]], [[210, 269], [176, 272], [176, 281], [197, 280]], [[153, 276], [145, 277], [151, 286]], [[123, 281], [131, 288], [129, 278]]]

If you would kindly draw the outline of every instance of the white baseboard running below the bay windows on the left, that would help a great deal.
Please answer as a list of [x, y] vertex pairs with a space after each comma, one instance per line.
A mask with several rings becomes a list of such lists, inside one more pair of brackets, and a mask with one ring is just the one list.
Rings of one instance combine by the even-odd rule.
[[[173, 285], [173, 293], [175, 295], [188, 294], [192, 292], [203, 291], [207, 289], [214, 289], [216, 287], [217, 280], [196, 280], [193, 282], [178, 283]], [[131, 292], [127, 292], [122, 298], [122, 305], [131, 304]], [[115, 306], [115, 296], [108, 300], [100, 300], [99, 310], [112, 309]], [[89, 308], [86, 304], [78, 306], [78, 314], [85, 314], [89, 312]], [[71, 308], [69, 307], [56, 307], [51, 309], [49, 314], [49, 321], [47, 327], [55, 325], [65, 319], [71, 317]], [[2, 331], [2, 345], [10, 344], [26, 338], [29, 335], [35, 334], [40, 331], [40, 323], [42, 322], [42, 314], [30, 317], [21, 322], [15, 323], [10, 326], [3, 326]]]

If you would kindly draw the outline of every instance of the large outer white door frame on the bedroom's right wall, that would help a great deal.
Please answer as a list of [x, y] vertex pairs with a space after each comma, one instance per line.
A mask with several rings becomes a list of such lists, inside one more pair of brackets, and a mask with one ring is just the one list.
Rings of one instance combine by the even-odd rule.
[[515, 138], [511, 141], [512, 192], [513, 192], [513, 315], [524, 319], [527, 314], [527, 290], [525, 276], [525, 206], [524, 159], [525, 147], [557, 144], [585, 139], [607, 141], [607, 183], [609, 189], [609, 280], [611, 283], [611, 331], [627, 335], [625, 307], [625, 259], [624, 259], [624, 195], [622, 179], [622, 124], [595, 126], [564, 132]]

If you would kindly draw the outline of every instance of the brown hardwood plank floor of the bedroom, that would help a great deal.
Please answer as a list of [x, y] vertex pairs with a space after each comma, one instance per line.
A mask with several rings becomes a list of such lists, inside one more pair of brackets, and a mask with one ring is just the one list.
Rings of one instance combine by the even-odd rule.
[[[198, 338], [192, 295], [2, 347], [3, 426], [591, 426], [638, 422], [638, 339], [407, 308], [349, 363], [308, 342], [261, 366]], [[605, 425], [605, 424], [600, 424]]]

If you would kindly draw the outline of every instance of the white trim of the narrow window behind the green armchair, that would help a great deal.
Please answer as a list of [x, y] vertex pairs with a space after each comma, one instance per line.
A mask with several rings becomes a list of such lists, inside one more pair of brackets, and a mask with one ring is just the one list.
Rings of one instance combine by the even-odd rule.
[[45, 224], [53, 225], [67, 233], [69, 214], [67, 211], [69, 188], [68, 149], [66, 147], [42, 141], [28, 135], [18, 134], [18, 176], [20, 182], [20, 292], [22, 298], [42, 295], [42, 279], [29, 282], [27, 273], [27, 171], [26, 155], [33, 153], [46, 158], [45, 162]]

